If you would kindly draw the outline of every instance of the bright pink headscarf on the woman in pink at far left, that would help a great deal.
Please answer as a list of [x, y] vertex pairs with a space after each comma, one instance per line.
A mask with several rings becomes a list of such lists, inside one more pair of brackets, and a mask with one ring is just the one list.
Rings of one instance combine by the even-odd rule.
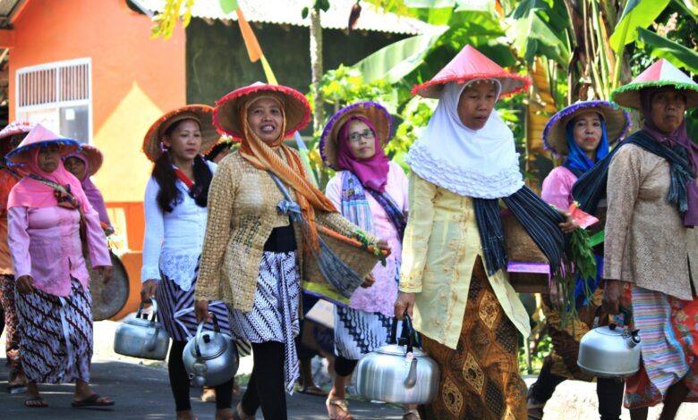
[[[29, 154], [30, 158], [21, 169], [27, 174], [33, 173], [34, 175], [54, 181], [55, 183], [63, 185], [64, 187], [70, 186], [71, 193], [78, 199], [78, 201], [80, 201], [82, 210], [88, 211], [90, 208], [92, 208], [92, 206], [89, 205], [88, 198], [85, 196], [85, 192], [82, 190], [80, 181], [78, 181], [78, 179], [75, 178], [71, 172], [68, 172], [65, 169], [63, 160], [58, 159], [54, 172], [41, 171], [41, 169], [38, 167], [38, 151], [40, 148], [40, 146], [30, 147], [30, 149], [25, 152]], [[10, 197], [7, 200], [7, 208], [43, 208], [58, 206], [58, 200], [55, 198], [54, 191], [55, 189], [52, 189], [39, 181], [32, 180], [29, 176], [25, 176], [10, 191]]]

